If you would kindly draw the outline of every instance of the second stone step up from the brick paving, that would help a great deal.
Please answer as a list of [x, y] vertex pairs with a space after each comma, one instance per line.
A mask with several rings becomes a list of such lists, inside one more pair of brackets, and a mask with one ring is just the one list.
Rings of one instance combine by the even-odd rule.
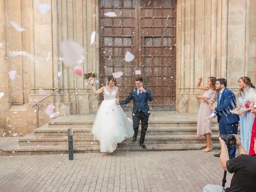
[[[212, 135], [212, 142], [218, 143], [219, 135]], [[93, 136], [73, 136], [74, 145], [99, 145], [99, 141], [94, 140]], [[139, 140], [139, 137], [138, 137]], [[147, 135], [146, 144], [192, 144], [204, 143], [196, 135]], [[41, 145], [68, 145], [68, 136], [34, 136], [28, 134], [19, 139], [20, 146], [41, 146]], [[124, 144], [133, 145], [132, 138], [124, 140]]]

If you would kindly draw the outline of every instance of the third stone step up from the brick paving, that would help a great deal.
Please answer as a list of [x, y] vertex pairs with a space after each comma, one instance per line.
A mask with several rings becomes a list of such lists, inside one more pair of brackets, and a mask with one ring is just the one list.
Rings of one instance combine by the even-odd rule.
[[[73, 136], [90, 136], [92, 128], [73, 128]], [[196, 127], [148, 127], [147, 135], [196, 135]], [[35, 136], [67, 136], [68, 128], [37, 128]], [[140, 134], [140, 129], [139, 133]], [[218, 127], [212, 127], [212, 134], [219, 134]]]

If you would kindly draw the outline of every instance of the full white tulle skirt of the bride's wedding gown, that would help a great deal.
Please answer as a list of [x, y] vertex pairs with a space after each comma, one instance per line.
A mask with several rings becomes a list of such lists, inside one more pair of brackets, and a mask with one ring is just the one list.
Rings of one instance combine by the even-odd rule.
[[92, 134], [100, 142], [100, 152], [113, 152], [117, 144], [134, 134], [132, 120], [126, 117], [115, 99], [103, 100], [97, 111]]

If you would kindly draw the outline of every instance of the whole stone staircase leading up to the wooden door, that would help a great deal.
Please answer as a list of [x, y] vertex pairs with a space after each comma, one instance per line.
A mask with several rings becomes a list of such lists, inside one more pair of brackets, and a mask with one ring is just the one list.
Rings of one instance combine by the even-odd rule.
[[[166, 114], [167, 113], [167, 114]], [[196, 115], [153, 112], [149, 119], [146, 150], [195, 150], [205, 143], [196, 138]], [[170, 116], [168, 116], [168, 114]], [[94, 115], [58, 117], [32, 133], [18, 138], [18, 143], [1, 149], [1, 155], [61, 154], [68, 153], [68, 128], [73, 128], [74, 152], [100, 152], [100, 143], [93, 139], [91, 128]], [[139, 138], [140, 131], [138, 133]], [[212, 122], [213, 148], [220, 148], [218, 124]], [[128, 138], [118, 144], [117, 150], [144, 150], [139, 141]]]

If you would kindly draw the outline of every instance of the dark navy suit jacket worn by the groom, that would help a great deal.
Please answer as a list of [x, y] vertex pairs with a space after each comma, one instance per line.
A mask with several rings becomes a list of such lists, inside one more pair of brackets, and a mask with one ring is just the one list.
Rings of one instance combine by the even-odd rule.
[[141, 97], [139, 99], [139, 96], [137, 94], [137, 88], [132, 90], [126, 100], [120, 101], [120, 105], [124, 105], [129, 103], [131, 100], [133, 100], [133, 109], [132, 113], [136, 113], [138, 111], [139, 106], [142, 108], [142, 112], [144, 112], [145, 115], [150, 115], [149, 108], [148, 108], [148, 100], [152, 101], [153, 97], [150, 93], [149, 89], [146, 89], [146, 93], [142, 93]]

